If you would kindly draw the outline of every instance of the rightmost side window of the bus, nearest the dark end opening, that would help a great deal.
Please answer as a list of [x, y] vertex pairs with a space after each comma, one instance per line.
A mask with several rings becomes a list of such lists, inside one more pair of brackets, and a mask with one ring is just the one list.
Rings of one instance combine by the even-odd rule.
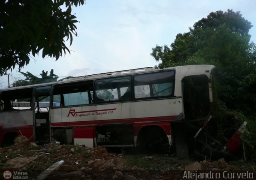
[[134, 93], [135, 98], [173, 96], [174, 71], [136, 75]]

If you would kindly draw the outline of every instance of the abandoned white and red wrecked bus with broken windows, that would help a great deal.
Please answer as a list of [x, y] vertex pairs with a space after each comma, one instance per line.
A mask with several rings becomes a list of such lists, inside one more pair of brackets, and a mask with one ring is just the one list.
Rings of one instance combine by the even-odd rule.
[[214, 69], [141, 68], [2, 89], [0, 143], [21, 134], [37, 144], [171, 146], [177, 124], [208, 117]]

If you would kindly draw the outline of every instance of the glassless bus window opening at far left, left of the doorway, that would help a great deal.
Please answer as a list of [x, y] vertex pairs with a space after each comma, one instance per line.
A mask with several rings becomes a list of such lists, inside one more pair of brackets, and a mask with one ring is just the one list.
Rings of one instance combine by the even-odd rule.
[[0, 111], [31, 109], [33, 88], [8, 90], [1, 93]]

